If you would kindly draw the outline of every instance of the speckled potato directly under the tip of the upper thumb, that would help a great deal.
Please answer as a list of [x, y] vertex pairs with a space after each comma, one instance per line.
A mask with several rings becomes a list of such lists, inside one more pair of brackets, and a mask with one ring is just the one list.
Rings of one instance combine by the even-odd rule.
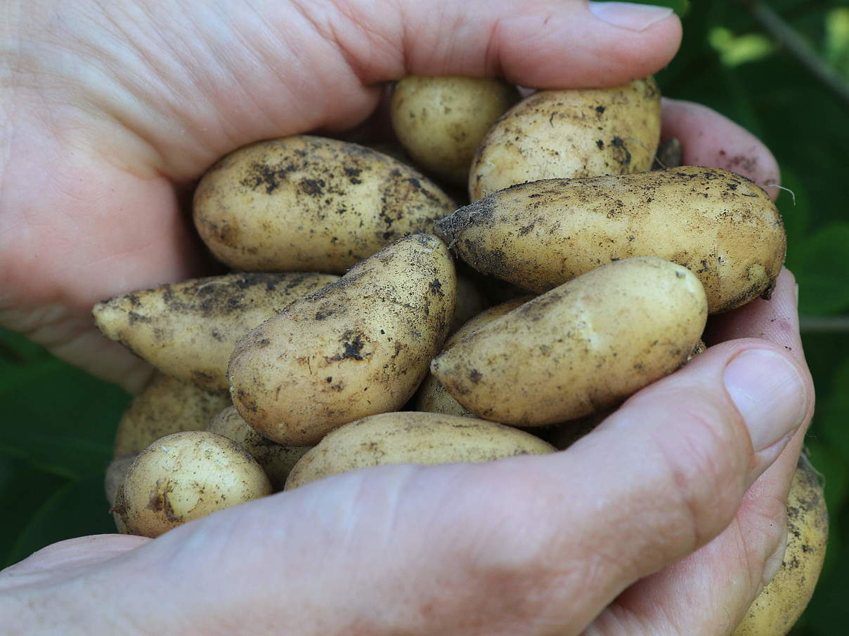
[[469, 172], [469, 198], [526, 181], [649, 170], [660, 138], [661, 93], [651, 77], [536, 92], [484, 137]]

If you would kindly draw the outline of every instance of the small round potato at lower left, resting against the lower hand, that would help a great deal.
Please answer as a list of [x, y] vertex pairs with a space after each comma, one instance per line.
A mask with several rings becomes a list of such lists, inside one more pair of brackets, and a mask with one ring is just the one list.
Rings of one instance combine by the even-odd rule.
[[175, 432], [132, 462], [112, 511], [127, 533], [158, 537], [271, 492], [260, 465], [233, 440], [206, 431]]

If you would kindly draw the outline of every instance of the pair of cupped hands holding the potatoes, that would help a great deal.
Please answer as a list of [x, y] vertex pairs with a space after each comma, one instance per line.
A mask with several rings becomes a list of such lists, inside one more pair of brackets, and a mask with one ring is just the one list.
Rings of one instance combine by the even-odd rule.
[[[668, 9], [584, 0], [0, 6], [0, 325], [131, 391], [149, 367], [91, 307], [211, 271], [185, 209], [223, 154], [351, 130], [403, 75], [614, 86], [681, 37]], [[663, 136], [686, 164], [778, 182], [767, 148], [710, 109], [667, 99]], [[554, 455], [383, 466], [155, 540], [53, 544], [0, 572], [3, 633], [730, 633], [781, 563], [812, 414], [796, 301], [784, 271]]]

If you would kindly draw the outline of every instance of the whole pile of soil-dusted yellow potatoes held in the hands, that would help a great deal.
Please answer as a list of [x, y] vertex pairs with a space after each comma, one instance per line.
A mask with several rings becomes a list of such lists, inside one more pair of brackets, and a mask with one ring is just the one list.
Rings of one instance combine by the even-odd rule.
[[651, 78], [520, 99], [409, 77], [392, 122], [412, 159], [302, 135], [219, 160], [194, 222], [233, 273], [95, 306], [160, 371], [116, 436], [122, 532], [366, 466], [565, 448], [697, 353], [707, 315], [768, 298], [784, 262], [755, 183], [647, 171]]

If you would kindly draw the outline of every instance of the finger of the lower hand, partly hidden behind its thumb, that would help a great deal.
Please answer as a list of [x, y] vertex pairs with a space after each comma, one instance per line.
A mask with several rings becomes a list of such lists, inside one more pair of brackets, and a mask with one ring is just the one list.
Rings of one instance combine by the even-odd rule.
[[[796, 284], [779, 276], [773, 300], [732, 312], [722, 335], [764, 338], [804, 362], [796, 312]], [[650, 636], [729, 633], [783, 561], [785, 502], [809, 419], [787, 448], [746, 492], [732, 522], [711, 543], [662, 572], [627, 589], [593, 622], [588, 634]], [[694, 603], [694, 599], [700, 602]]]

